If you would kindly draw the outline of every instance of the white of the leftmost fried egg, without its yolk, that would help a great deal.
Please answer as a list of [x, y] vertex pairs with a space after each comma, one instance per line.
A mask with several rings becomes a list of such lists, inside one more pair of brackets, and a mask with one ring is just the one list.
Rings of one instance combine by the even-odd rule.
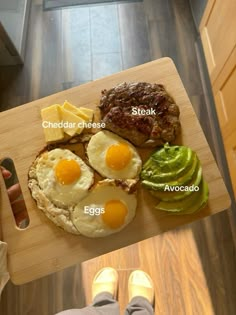
[[[56, 178], [54, 168], [62, 159], [74, 160], [80, 166], [81, 175], [72, 184], [63, 185]], [[45, 196], [59, 207], [77, 204], [88, 194], [88, 189], [94, 182], [94, 173], [90, 167], [67, 149], [54, 149], [43, 153], [37, 161], [36, 176]]]

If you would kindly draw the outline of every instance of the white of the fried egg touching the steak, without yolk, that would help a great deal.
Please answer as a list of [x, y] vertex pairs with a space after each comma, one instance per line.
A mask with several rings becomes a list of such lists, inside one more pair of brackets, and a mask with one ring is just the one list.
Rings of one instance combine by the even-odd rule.
[[[110, 146], [121, 142], [129, 146], [132, 158], [123, 169], [114, 170], [106, 164], [106, 153]], [[136, 178], [141, 171], [142, 160], [135, 147], [110, 131], [100, 131], [92, 136], [88, 143], [87, 155], [90, 165], [103, 177], [113, 179]]]

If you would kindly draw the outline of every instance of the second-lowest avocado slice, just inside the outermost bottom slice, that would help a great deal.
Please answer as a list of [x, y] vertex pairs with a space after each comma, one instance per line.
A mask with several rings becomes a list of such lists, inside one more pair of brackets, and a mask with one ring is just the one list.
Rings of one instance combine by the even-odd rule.
[[[196, 169], [196, 175], [193, 177], [192, 181], [186, 187], [198, 187], [202, 180], [202, 167], [199, 164], [199, 167]], [[175, 201], [182, 200], [187, 196], [195, 193], [192, 190], [184, 190], [184, 191], [159, 191], [159, 190], [150, 190], [151, 194], [161, 201]]]

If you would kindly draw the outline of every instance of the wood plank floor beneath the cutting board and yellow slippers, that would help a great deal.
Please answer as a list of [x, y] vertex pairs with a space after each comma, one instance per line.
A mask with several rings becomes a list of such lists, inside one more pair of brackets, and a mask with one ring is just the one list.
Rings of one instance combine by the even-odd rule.
[[[170, 56], [218, 158], [196, 38], [187, 0], [144, 0], [48, 12], [42, 11], [41, 0], [33, 0], [25, 65], [0, 68], [0, 110]], [[233, 218], [227, 210], [32, 283], [15, 286], [9, 282], [0, 314], [53, 315], [83, 307], [91, 302], [91, 281], [103, 266], [118, 269], [122, 311], [129, 273], [141, 268], [155, 282], [155, 314], [236, 314]]]

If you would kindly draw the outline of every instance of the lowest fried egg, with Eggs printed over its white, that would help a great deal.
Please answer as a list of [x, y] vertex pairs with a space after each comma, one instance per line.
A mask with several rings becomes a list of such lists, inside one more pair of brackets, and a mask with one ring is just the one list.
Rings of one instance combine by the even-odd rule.
[[136, 207], [135, 194], [103, 181], [74, 207], [71, 219], [84, 236], [104, 237], [128, 225], [135, 216]]

